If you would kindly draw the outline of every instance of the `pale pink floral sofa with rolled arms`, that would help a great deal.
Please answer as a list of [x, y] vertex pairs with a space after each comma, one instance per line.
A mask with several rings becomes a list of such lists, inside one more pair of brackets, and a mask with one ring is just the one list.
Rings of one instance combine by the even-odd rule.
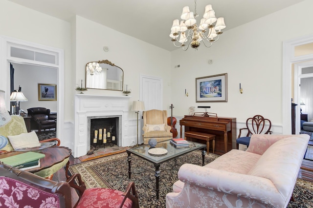
[[286, 208], [309, 135], [253, 134], [205, 166], [184, 164], [166, 195], [167, 208]]

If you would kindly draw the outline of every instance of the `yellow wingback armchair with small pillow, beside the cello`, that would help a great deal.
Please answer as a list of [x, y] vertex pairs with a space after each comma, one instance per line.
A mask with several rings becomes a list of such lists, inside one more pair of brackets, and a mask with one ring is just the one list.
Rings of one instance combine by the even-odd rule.
[[143, 116], [143, 143], [148, 144], [149, 139], [154, 138], [162, 142], [173, 138], [172, 127], [167, 125], [166, 110], [147, 110], [142, 112]]

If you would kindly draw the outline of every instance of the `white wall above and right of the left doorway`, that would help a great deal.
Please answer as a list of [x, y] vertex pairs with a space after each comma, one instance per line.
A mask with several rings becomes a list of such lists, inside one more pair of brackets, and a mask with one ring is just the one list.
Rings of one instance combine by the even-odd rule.
[[[0, 35], [64, 50], [65, 121], [73, 121], [70, 24], [8, 0], [0, 1]], [[38, 100], [38, 98], [37, 98]]]

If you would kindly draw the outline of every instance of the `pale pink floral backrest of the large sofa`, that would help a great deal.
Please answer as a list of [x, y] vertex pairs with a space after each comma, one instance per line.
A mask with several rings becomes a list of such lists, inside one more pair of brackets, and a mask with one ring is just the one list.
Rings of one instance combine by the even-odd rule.
[[272, 144], [247, 174], [269, 179], [284, 198], [290, 198], [307, 144], [299, 136]]

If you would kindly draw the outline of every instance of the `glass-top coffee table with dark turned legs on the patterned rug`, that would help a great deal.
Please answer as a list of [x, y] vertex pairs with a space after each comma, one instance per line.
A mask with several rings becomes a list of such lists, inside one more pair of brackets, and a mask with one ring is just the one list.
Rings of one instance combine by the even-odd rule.
[[[151, 148], [149, 145], [144, 146], [138, 146], [131, 149], [127, 149], [126, 152], [128, 154], [127, 161], [128, 161], [128, 178], [131, 178], [132, 172], [131, 172], [131, 162], [132, 157], [131, 154], [134, 154], [146, 161], [149, 161], [152, 163], [156, 170], [155, 170], [155, 176], [156, 176], [156, 199], [158, 199], [158, 193], [159, 193], [159, 176], [161, 171], [159, 170], [159, 167], [162, 163], [175, 159], [181, 155], [187, 154], [189, 152], [192, 152], [197, 149], [202, 150], [202, 166], [204, 166], [204, 156], [206, 154], [205, 148], [206, 145], [195, 143], [195, 142], [189, 142], [190, 145], [188, 148], [176, 148], [173, 145], [170, 144], [171, 140], [167, 140], [164, 142], [157, 143], [156, 148]], [[160, 150], [160, 151], [151, 151], [154, 150]], [[150, 150], [150, 151], [149, 151]], [[152, 153], [151, 153], [152, 152]]]

